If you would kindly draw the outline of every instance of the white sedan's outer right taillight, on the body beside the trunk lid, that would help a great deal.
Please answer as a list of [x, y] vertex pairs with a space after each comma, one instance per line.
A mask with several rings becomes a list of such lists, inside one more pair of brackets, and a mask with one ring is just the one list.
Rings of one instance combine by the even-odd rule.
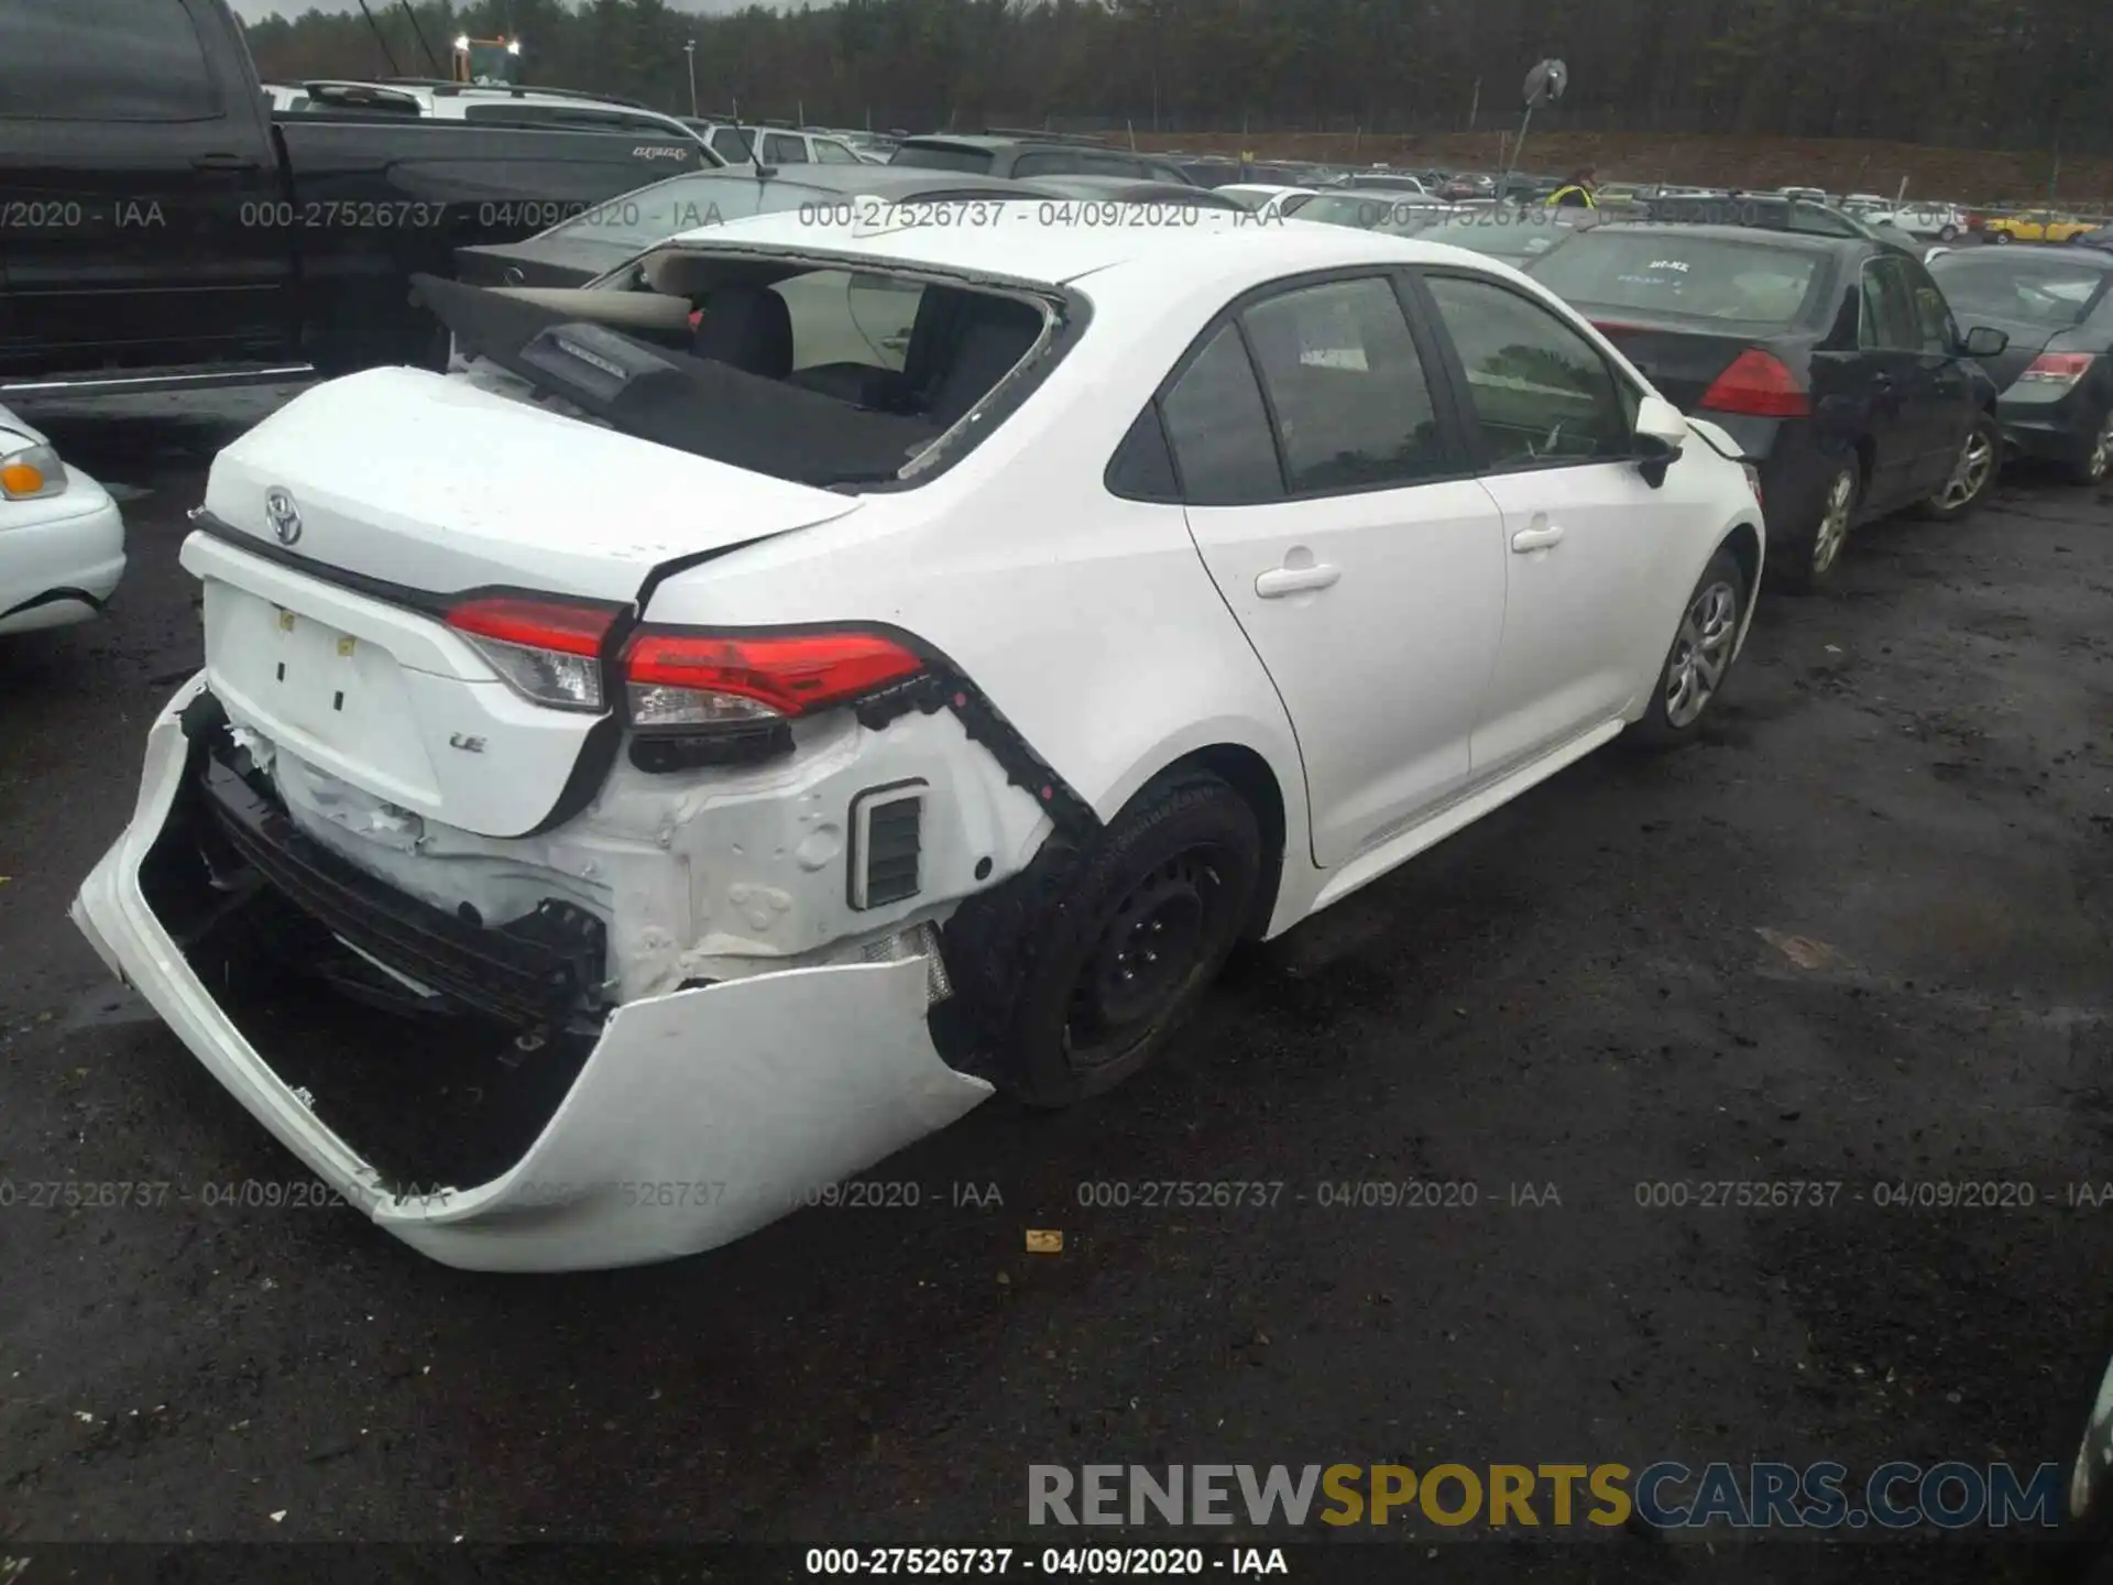
[[923, 670], [877, 632], [710, 634], [644, 628], [623, 651], [636, 727], [782, 721], [858, 700]]

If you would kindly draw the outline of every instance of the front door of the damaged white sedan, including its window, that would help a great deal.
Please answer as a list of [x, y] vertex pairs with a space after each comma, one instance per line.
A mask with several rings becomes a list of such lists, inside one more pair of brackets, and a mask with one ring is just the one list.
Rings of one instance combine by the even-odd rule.
[[1669, 640], [1678, 592], [1661, 585], [1697, 503], [1676, 473], [1644, 482], [1638, 391], [1578, 330], [1490, 277], [1428, 271], [1422, 285], [1502, 511], [1504, 640], [1473, 740], [1483, 782], [1623, 712]]

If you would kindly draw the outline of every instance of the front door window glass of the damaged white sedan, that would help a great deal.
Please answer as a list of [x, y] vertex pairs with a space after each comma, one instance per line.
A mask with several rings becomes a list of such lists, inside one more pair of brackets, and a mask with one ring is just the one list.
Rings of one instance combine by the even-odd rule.
[[1600, 351], [1538, 302], [1496, 285], [1426, 281], [1460, 353], [1490, 467], [1549, 467], [1627, 456], [1627, 387]]

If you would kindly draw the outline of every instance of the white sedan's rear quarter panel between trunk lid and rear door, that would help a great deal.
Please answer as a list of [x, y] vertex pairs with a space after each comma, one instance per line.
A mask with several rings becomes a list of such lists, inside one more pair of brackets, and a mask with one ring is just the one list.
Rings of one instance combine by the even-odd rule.
[[[1097, 311], [1035, 397], [955, 467], [871, 495], [849, 520], [678, 573], [647, 619], [890, 623], [974, 678], [1103, 820], [1175, 759], [1234, 744], [1270, 767], [1285, 828], [1304, 833], [1291, 721], [1181, 507], [1103, 484], [1130, 421], [1223, 296], [1156, 319]], [[1289, 898], [1306, 843], [1287, 847]]]

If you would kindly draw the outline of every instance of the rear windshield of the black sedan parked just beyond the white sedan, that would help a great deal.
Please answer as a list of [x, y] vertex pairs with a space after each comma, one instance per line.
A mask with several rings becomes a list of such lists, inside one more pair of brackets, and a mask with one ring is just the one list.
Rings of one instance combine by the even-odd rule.
[[1555, 296], [1593, 309], [1779, 328], [1805, 317], [1824, 264], [1826, 256], [1807, 249], [1600, 226], [1572, 232], [1528, 271]]

